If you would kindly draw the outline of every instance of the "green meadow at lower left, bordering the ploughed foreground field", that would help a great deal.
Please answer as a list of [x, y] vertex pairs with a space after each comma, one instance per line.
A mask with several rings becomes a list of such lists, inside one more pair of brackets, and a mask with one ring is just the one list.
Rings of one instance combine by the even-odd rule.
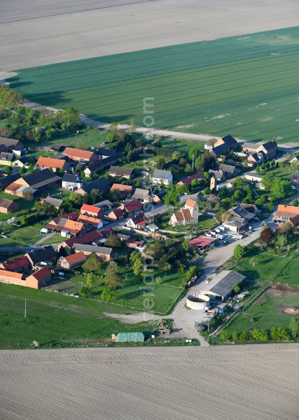
[[[24, 318], [24, 304], [26, 318]], [[28, 348], [33, 340], [41, 347], [97, 345], [111, 333], [155, 329], [151, 323], [121, 324], [105, 317], [108, 305], [94, 299], [0, 284], [0, 349]], [[91, 343], [90, 343], [91, 341]], [[92, 344], [94, 341], [94, 344]]]

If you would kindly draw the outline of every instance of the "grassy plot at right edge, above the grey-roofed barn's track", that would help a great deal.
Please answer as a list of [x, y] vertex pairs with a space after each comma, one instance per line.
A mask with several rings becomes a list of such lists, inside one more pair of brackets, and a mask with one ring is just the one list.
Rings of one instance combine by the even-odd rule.
[[[275, 255], [273, 248], [265, 250], [265, 248], [260, 249], [260, 247], [250, 244], [245, 247], [245, 254], [241, 260], [236, 262], [236, 258], [231, 257], [226, 262], [226, 267], [231, 267], [231, 269], [239, 271], [252, 280], [299, 286], [297, 275], [299, 255], [296, 252], [299, 237], [294, 236], [288, 240], [288, 243], [291, 246], [288, 255], [286, 251], [280, 253], [279, 250]], [[257, 261], [257, 265], [254, 267], [250, 262], [253, 257]]]

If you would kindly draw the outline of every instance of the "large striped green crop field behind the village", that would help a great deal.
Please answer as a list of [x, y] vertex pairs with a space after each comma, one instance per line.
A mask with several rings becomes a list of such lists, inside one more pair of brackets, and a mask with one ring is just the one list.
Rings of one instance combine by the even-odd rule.
[[161, 129], [297, 141], [299, 30], [280, 29], [18, 71], [11, 87], [98, 121], [142, 124], [154, 98]]

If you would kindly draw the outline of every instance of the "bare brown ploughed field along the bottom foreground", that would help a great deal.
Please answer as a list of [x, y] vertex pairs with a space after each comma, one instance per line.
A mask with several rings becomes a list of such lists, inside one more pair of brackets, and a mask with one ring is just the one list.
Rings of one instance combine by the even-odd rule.
[[296, 420], [299, 345], [0, 352], [5, 420]]

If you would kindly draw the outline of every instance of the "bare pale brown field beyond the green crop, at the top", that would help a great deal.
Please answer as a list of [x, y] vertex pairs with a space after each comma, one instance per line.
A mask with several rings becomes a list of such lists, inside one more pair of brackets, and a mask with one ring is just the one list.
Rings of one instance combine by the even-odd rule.
[[4, 0], [0, 71], [268, 31], [299, 21], [297, 0], [119, 3], [124, 1]]

